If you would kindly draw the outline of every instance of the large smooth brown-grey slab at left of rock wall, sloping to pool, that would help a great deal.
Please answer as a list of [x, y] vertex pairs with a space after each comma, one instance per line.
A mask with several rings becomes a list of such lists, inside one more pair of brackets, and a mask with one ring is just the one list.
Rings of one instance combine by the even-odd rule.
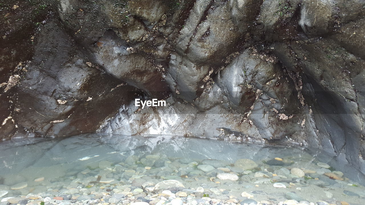
[[[102, 74], [57, 24], [43, 28], [36, 47], [15, 103], [14, 119], [23, 127], [41, 136], [95, 131], [127, 101], [132, 88]], [[119, 103], [105, 104], [106, 98]]]

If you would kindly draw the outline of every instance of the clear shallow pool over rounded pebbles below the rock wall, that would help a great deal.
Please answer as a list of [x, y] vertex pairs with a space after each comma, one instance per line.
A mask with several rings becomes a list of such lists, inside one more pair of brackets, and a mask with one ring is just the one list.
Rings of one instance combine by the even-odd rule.
[[[244, 163], [239, 159], [245, 159]], [[362, 174], [320, 150], [303, 147], [168, 135], [88, 134], [3, 142], [0, 162], [3, 202], [8, 197], [22, 197], [26, 201], [21, 202], [34, 205], [130, 204], [141, 200], [162, 205], [180, 196], [181, 201], [193, 205], [244, 204], [248, 199], [268, 205], [299, 201], [303, 205], [365, 204]], [[324, 169], [326, 165], [319, 162], [331, 167]], [[222, 179], [227, 175], [224, 173], [238, 180]], [[164, 180], [178, 182], [162, 186], [159, 182]], [[181, 184], [184, 187], [177, 187]], [[64, 199], [53, 199], [57, 196]], [[113, 196], [124, 197], [111, 200]]]

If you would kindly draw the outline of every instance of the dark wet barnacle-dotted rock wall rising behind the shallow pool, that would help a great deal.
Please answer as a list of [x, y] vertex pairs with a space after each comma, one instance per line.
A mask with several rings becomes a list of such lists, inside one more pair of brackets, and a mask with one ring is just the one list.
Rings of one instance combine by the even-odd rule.
[[[295, 142], [365, 173], [363, 1], [9, 5], [18, 7], [0, 9], [1, 138], [102, 131]], [[140, 109], [135, 98], [168, 106]]]

